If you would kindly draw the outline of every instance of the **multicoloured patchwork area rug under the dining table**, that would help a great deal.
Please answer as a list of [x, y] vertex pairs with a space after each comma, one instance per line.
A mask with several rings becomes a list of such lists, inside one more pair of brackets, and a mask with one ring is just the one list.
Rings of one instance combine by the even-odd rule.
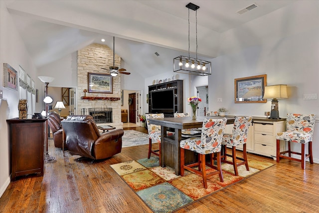
[[[211, 176], [207, 178], [207, 189], [203, 187], [201, 176], [186, 170], [183, 177], [176, 176], [174, 169], [161, 168], [159, 159], [154, 157], [111, 167], [153, 212], [170, 213], [274, 165], [255, 159], [248, 161], [249, 171], [246, 171], [245, 165], [239, 166], [239, 176], [235, 176], [232, 165], [222, 164], [224, 182], [219, 181], [218, 175]], [[207, 173], [214, 171], [206, 168]]]

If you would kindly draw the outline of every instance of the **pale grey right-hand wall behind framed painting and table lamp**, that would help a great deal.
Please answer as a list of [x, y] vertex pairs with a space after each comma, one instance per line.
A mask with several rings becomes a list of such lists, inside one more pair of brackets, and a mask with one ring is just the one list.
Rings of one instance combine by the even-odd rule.
[[[288, 36], [282, 37], [281, 31]], [[221, 37], [224, 55], [212, 60], [214, 71], [208, 77], [209, 109], [226, 107], [231, 115], [264, 116], [271, 101], [234, 103], [234, 79], [267, 74], [267, 85], [288, 85], [289, 98], [279, 100], [281, 117], [304, 113], [319, 119], [319, 99], [303, 100], [303, 94], [319, 95], [319, 1], [297, 1]], [[223, 102], [217, 102], [218, 97]], [[316, 122], [313, 154], [319, 163], [318, 136]]]

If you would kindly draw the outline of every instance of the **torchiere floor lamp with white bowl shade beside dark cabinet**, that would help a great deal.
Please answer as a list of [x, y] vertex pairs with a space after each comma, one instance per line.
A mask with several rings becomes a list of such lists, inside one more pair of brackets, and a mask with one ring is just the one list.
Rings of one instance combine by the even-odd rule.
[[[54, 78], [49, 77], [49, 76], [38, 76], [38, 79], [42, 81], [45, 84], [45, 98], [44, 98], [44, 103], [45, 103], [45, 117], [48, 116], [48, 104], [52, 103], [52, 98], [48, 96], [48, 85], [51, 83]], [[56, 159], [54, 157], [49, 156], [49, 151], [48, 151], [48, 122], [45, 122], [45, 162], [56, 162]]]

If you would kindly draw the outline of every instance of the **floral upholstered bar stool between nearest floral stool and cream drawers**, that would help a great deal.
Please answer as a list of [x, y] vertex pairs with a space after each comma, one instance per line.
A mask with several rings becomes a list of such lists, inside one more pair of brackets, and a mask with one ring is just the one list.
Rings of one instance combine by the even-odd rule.
[[[247, 117], [235, 117], [234, 127], [232, 134], [224, 134], [222, 141], [222, 162], [227, 164], [232, 164], [234, 166], [235, 175], [238, 176], [237, 167], [244, 165], [246, 166], [246, 170], [249, 171], [248, 161], [247, 161], [247, 152], [246, 152], [246, 141], [249, 126], [252, 122], [252, 116]], [[243, 157], [239, 158], [236, 156], [236, 147], [238, 145], [243, 144]], [[227, 154], [227, 147], [230, 146], [232, 148], [232, 155]], [[228, 157], [232, 157], [232, 161], [227, 160]], [[240, 160], [240, 163], [237, 163], [237, 160]]]

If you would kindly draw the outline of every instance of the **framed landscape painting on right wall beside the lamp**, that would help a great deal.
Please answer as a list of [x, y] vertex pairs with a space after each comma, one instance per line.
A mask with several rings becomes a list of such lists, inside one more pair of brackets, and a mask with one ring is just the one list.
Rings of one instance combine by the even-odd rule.
[[266, 103], [263, 99], [267, 75], [235, 78], [235, 103]]

